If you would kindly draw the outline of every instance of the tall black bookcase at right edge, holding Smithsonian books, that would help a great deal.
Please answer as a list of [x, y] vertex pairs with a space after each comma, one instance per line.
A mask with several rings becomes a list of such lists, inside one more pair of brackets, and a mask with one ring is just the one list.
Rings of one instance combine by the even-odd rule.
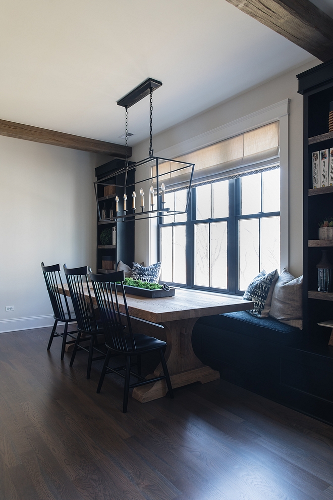
[[318, 322], [333, 320], [333, 293], [319, 292], [316, 265], [321, 249], [333, 263], [333, 241], [318, 239], [318, 223], [333, 217], [333, 186], [312, 188], [312, 158], [315, 151], [333, 147], [328, 132], [329, 103], [333, 101], [333, 60], [297, 75], [304, 98], [303, 149], [303, 325], [309, 345], [333, 358], [328, 347], [330, 330]]

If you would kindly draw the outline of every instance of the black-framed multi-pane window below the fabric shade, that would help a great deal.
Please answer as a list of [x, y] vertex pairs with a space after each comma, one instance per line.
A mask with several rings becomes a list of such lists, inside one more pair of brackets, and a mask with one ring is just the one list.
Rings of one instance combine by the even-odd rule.
[[[186, 190], [165, 195], [184, 205]], [[161, 280], [241, 293], [262, 269], [280, 269], [280, 168], [197, 185], [186, 215], [159, 220]]]

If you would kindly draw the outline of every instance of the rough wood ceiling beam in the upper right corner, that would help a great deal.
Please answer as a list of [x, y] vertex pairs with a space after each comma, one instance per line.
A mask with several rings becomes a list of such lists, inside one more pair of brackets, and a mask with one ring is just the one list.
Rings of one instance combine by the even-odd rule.
[[309, 0], [227, 0], [320, 61], [333, 59], [333, 19]]

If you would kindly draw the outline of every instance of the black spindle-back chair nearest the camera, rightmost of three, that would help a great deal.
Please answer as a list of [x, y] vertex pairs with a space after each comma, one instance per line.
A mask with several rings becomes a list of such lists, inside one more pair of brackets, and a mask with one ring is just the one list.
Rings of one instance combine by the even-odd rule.
[[[157, 380], [165, 379], [165, 382], [167, 382], [167, 386], [169, 389], [170, 397], [174, 397], [167, 363], [165, 363], [163, 354], [163, 349], [167, 345], [167, 342], [158, 340], [154, 337], [148, 337], [143, 333], [133, 333], [132, 331], [131, 318], [128, 312], [123, 283], [125, 279], [124, 271], [119, 271], [112, 274], [89, 273], [89, 276], [94, 288], [100, 319], [105, 333], [105, 344], [107, 347], [107, 354], [104, 361], [102, 373], [100, 375], [97, 392], [100, 392], [105, 374], [114, 372], [125, 378], [123, 399], [124, 413], [126, 413], [127, 411], [128, 392], [132, 387], [151, 384], [152, 382], [156, 382]], [[118, 285], [118, 287], [121, 288], [121, 291], [117, 290], [117, 281], [120, 281], [120, 285]], [[119, 308], [119, 296], [121, 296], [124, 302], [125, 311], [123, 311], [123, 313], [125, 312], [127, 319], [127, 327], [125, 329], [122, 323], [122, 315]], [[152, 351], [159, 352], [164, 375], [147, 380], [141, 376], [141, 355], [150, 353]], [[116, 368], [108, 366], [108, 362], [112, 353], [126, 356], [126, 365]], [[131, 371], [131, 366], [133, 366], [131, 365], [131, 357], [133, 356], [136, 356], [138, 358], [138, 373]], [[120, 373], [120, 371], [122, 370], [125, 370], [125, 374]], [[136, 377], [139, 382], [130, 384], [131, 375]]]

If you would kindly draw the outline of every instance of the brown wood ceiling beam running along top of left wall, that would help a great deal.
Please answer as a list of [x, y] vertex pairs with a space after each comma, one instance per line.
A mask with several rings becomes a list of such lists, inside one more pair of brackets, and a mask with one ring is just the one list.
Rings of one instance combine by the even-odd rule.
[[[70, 147], [72, 149], [80, 149], [81, 151], [115, 156], [117, 158], [125, 158], [126, 156], [125, 146], [122, 144], [88, 139], [87, 137], [64, 134], [62, 132], [55, 132], [54, 130], [47, 130], [46, 128], [33, 127], [31, 125], [23, 125], [22, 123], [8, 122], [6, 120], [0, 120], [0, 135], [32, 140], [34, 142], [43, 142], [44, 144], [52, 144], [53, 146]], [[130, 158], [132, 155], [132, 148], [128, 147], [127, 149], [128, 157]]]

